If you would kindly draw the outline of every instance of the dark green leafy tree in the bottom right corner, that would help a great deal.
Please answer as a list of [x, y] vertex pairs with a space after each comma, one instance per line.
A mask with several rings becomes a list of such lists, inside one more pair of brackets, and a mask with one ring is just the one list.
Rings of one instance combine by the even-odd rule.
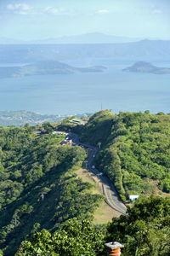
[[170, 255], [170, 198], [141, 198], [127, 216], [113, 219], [108, 233], [108, 241], [125, 244], [124, 256]]

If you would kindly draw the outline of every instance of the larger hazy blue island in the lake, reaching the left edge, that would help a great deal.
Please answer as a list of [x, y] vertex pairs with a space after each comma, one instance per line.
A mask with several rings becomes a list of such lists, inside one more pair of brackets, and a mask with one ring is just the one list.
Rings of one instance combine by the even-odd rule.
[[72, 67], [59, 61], [40, 61], [22, 67], [0, 67], [0, 79], [35, 75], [103, 72], [106, 67]]

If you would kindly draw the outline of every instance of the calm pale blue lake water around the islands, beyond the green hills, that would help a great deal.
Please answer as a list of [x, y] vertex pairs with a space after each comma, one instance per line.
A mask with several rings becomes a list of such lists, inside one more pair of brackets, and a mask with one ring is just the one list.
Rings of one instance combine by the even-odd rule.
[[[104, 73], [0, 79], [0, 110], [75, 114], [107, 108], [114, 113], [147, 109], [170, 113], [170, 74], [122, 72], [132, 64], [116, 61]], [[154, 64], [168, 67], [167, 62]]]

